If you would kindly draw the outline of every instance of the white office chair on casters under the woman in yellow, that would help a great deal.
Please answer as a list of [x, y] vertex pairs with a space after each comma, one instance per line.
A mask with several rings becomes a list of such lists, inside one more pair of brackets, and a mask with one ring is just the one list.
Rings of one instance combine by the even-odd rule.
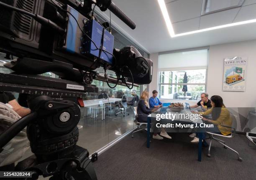
[[[236, 134], [236, 129], [234, 128], [234, 124], [235, 124], [235, 122], [236, 122], [236, 117], [235, 117], [235, 115], [233, 115], [233, 114], [230, 114], [230, 116], [231, 116], [231, 119], [232, 119], [232, 125], [231, 125], [232, 127], [229, 127], [229, 128], [231, 128], [231, 134], [230, 134], [230, 135], [224, 136], [224, 135], [222, 135], [222, 134], [216, 134], [216, 133], [212, 133], [212, 132], [207, 132], [207, 134], [209, 135], [209, 137], [210, 137], [210, 139], [211, 139], [210, 145], [209, 145], [209, 149], [208, 149], [208, 155], [207, 155], [207, 156], [208, 156], [208, 157], [211, 157], [210, 149], [211, 149], [212, 139], [213, 139], [213, 140], [217, 141], [218, 143], [222, 144], [225, 149], [228, 148], [228, 149], [230, 149], [230, 150], [236, 152], [236, 154], [238, 155], [238, 161], [242, 161], [243, 159], [240, 157], [240, 155], [239, 155], [239, 153], [238, 153], [237, 151], [233, 150], [231, 147], [228, 147], [228, 146], [225, 144], [225, 141], [220, 140], [220, 139], [217, 139], [217, 138], [214, 137], [214, 136], [221, 136], [221, 137], [226, 137], [226, 138], [234, 137], [234, 135]], [[236, 123], [236, 124], [237, 124], [237, 123]], [[228, 126], [224, 126], [224, 125], [221, 125], [221, 126], [223, 126], [223, 127], [228, 127]]]

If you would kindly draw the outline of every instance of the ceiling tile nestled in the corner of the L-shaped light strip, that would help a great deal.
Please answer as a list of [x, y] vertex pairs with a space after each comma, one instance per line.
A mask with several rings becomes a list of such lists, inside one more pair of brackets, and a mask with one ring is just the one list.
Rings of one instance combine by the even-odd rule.
[[192, 30], [198, 30], [199, 29], [199, 21], [200, 18], [194, 18], [189, 20], [184, 20], [178, 23], [172, 23], [174, 33], [186, 33]]

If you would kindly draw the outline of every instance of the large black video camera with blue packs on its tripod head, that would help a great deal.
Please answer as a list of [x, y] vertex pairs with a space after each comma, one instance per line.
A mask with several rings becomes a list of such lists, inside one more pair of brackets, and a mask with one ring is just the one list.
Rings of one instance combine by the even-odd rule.
[[[152, 61], [132, 46], [113, 49], [109, 24], [94, 18], [96, 5], [136, 27], [112, 0], [0, 0], [0, 52], [6, 58], [18, 57], [5, 63], [14, 73], [0, 73], [0, 91], [31, 95], [31, 114], [0, 135], [0, 149], [27, 127], [35, 155], [19, 162], [15, 170], [31, 171], [32, 179], [43, 175], [96, 180], [89, 153], [76, 145], [81, 97], [98, 91], [93, 79], [128, 88], [151, 82]], [[104, 74], [94, 71], [100, 66]], [[61, 79], [38, 76], [45, 72]]]

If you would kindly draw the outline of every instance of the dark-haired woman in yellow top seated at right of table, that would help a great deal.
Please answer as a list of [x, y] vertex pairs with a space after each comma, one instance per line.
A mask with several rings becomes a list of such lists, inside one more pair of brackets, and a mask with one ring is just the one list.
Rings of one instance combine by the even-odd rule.
[[[232, 119], [230, 117], [230, 112], [223, 104], [222, 97], [217, 95], [212, 96], [211, 105], [212, 105], [212, 108], [207, 110], [206, 112], [192, 112], [192, 113], [202, 114], [202, 116], [212, 114], [212, 120], [202, 117], [202, 120], [205, 121], [206, 123], [209, 122], [211, 124], [214, 124], [213, 128], [205, 128], [206, 131], [223, 134], [225, 136], [231, 134], [231, 129], [228, 127], [231, 127]], [[221, 125], [228, 126], [228, 127], [223, 127]], [[205, 139], [205, 133], [203, 134], [203, 139]], [[195, 137], [191, 142], [199, 142], [199, 138]]]

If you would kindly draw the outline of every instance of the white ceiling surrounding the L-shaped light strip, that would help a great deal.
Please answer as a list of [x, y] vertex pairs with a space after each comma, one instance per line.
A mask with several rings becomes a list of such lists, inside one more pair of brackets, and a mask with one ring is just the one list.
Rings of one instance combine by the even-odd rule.
[[[241, 7], [201, 16], [202, 1], [165, 0], [175, 34], [256, 19], [256, 0], [245, 0]], [[149, 53], [256, 39], [256, 23], [171, 38], [157, 0], [113, 3], [136, 23], [136, 29], [132, 30], [113, 14], [112, 24]], [[109, 20], [109, 11], [102, 15]]]

